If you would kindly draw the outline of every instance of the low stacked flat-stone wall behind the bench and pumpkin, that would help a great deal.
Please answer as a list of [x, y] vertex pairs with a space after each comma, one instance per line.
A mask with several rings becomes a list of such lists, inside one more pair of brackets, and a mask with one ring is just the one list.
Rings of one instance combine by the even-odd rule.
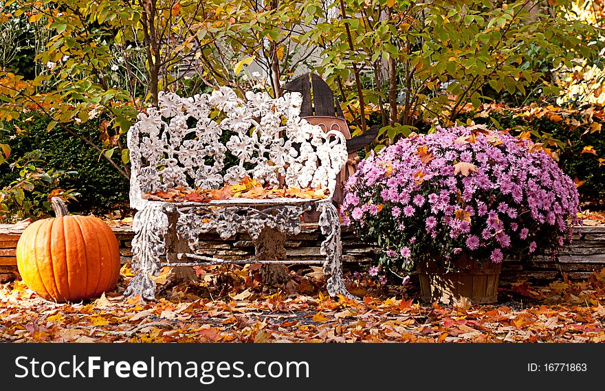
[[[112, 227], [120, 243], [120, 258], [122, 263], [132, 259], [131, 241], [133, 232], [131, 225]], [[15, 248], [23, 230], [15, 230], [12, 225], [0, 225], [0, 282], [10, 280], [17, 273]], [[286, 241], [285, 246], [289, 258], [318, 259], [321, 258], [320, 243], [322, 236], [314, 223], [303, 224], [303, 229], [297, 236]], [[346, 228], [342, 232], [343, 262], [345, 269], [359, 269], [358, 264], [372, 262], [377, 249], [359, 238]], [[199, 253], [205, 256], [217, 256], [223, 259], [248, 258], [254, 254], [254, 246], [246, 234], [237, 234], [227, 241], [221, 240], [217, 234], [206, 234], [199, 244]], [[593, 271], [605, 267], [605, 225], [583, 227], [582, 236], [575, 236], [571, 247], [562, 249], [557, 258], [536, 256], [529, 262], [507, 259], [503, 264], [500, 280], [512, 281], [519, 279], [552, 280], [565, 274], [572, 279], [586, 278]], [[365, 269], [365, 266], [362, 266]]]

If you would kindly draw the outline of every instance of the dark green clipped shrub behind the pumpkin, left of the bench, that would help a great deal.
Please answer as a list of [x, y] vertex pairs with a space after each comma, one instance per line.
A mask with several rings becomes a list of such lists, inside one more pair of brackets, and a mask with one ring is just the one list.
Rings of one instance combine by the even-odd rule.
[[[116, 208], [127, 208], [128, 180], [106, 159], [100, 157], [98, 150], [81, 139], [69, 135], [58, 126], [47, 132], [49, 122], [40, 113], [22, 115], [19, 120], [5, 122], [4, 131], [0, 133], [0, 143], [10, 145], [15, 159], [32, 150], [41, 150], [47, 154], [47, 167], [76, 171], [76, 174], [66, 177], [61, 185], [80, 193], [77, 201], [72, 201], [69, 205], [70, 211], [104, 213]], [[91, 120], [82, 126], [70, 126], [88, 139], [96, 140], [101, 146], [98, 122]], [[8, 166], [0, 166], [1, 187], [8, 186], [18, 176], [19, 172], [10, 170]]]

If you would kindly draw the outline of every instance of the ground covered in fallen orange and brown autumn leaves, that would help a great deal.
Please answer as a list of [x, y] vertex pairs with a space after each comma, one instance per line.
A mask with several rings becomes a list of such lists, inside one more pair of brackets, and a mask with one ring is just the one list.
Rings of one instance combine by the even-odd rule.
[[[500, 288], [495, 305], [423, 304], [412, 282], [353, 281], [360, 302], [332, 300], [317, 269], [280, 288], [257, 269], [160, 276], [158, 300], [125, 300], [129, 278], [98, 300], [56, 304], [20, 282], [0, 284], [0, 342], [605, 342], [605, 269], [580, 282]], [[412, 280], [413, 281], [413, 280]]]

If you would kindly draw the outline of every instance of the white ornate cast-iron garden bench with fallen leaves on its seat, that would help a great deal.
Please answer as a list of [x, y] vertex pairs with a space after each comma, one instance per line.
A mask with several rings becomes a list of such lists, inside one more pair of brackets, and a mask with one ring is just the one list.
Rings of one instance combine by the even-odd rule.
[[[241, 99], [228, 87], [181, 98], [160, 93], [158, 107], [140, 113], [128, 132], [131, 161], [131, 207], [137, 210], [132, 241], [133, 271], [124, 295], [155, 298], [163, 265], [233, 263], [322, 263], [331, 296], [352, 297], [342, 275], [340, 217], [331, 195], [347, 163], [343, 134], [331, 126], [300, 118], [302, 96], [246, 93]], [[228, 137], [230, 135], [230, 137]], [[228, 138], [228, 139], [227, 139]], [[234, 166], [226, 168], [232, 155]], [[230, 198], [208, 202], [156, 201], [146, 194], [171, 188], [221, 188], [252, 177], [272, 187], [323, 188], [323, 199]], [[300, 232], [305, 212], [320, 213], [325, 259], [286, 260], [287, 235]], [[256, 254], [223, 260], [195, 254], [199, 236], [217, 232], [227, 239], [248, 233]]]

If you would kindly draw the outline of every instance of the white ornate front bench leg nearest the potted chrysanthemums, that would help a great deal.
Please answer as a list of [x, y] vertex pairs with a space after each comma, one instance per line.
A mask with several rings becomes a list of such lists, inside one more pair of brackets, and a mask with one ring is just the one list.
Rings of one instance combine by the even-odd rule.
[[319, 226], [322, 234], [326, 236], [321, 245], [321, 254], [326, 256], [324, 262], [324, 273], [328, 278], [328, 293], [335, 297], [343, 295], [347, 298], [358, 300], [351, 295], [344, 284], [342, 275], [342, 241], [340, 240], [340, 218], [338, 210], [331, 201], [323, 202], [320, 205], [321, 215], [319, 217]]

